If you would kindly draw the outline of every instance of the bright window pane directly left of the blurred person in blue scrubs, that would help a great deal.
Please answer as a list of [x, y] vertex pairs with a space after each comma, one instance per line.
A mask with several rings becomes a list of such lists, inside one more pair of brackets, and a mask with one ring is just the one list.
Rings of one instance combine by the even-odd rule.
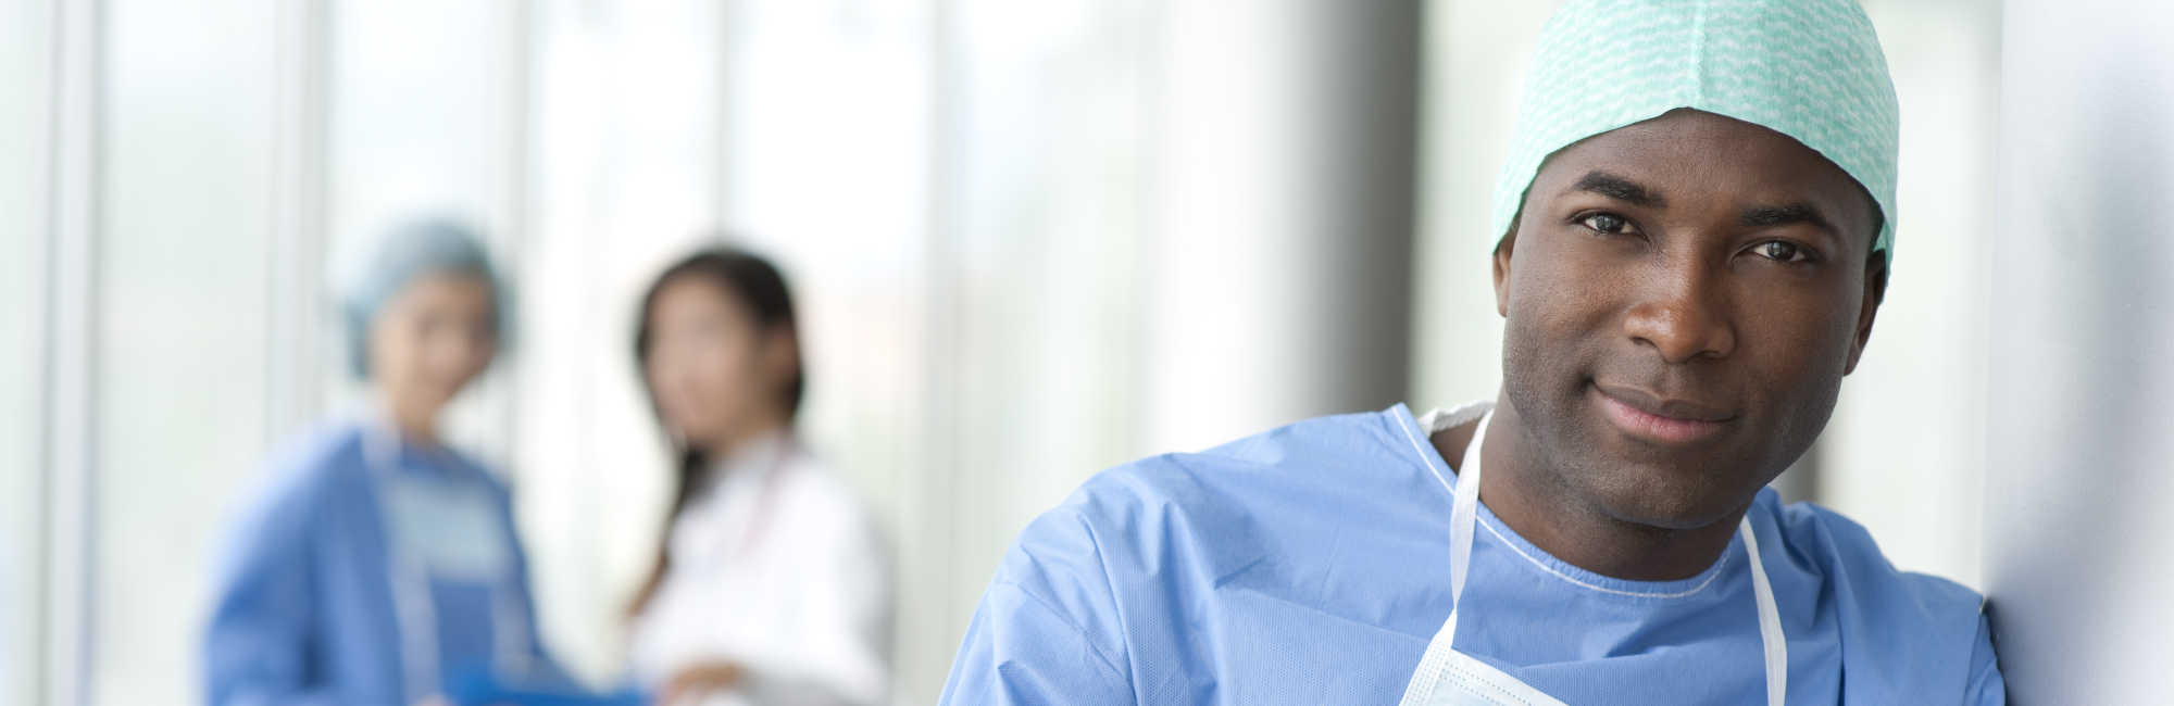
[[265, 443], [272, 0], [104, 7], [91, 697], [198, 689], [209, 571]]

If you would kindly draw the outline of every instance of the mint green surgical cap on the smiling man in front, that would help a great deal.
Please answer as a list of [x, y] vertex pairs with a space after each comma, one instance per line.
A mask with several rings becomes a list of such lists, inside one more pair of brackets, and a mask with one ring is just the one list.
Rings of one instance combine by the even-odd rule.
[[1894, 259], [1896, 143], [1887, 56], [1852, 0], [1572, 0], [1548, 20], [1496, 180], [1494, 232], [1539, 163], [1674, 109], [1728, 115], [1817, 150], [1878, 202]]

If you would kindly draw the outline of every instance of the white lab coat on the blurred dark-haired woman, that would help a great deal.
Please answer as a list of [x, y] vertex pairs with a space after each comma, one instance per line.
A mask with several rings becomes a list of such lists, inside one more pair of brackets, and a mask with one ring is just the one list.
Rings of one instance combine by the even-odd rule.
[[[730, 660], [733, 693], [702, 706], [880, 704], [891, 682], [891, 567], [867, 508], [789, 437], [709, 474], [672, 524], [672, 565], [633, 621], [644, 684]], [[678, 704], [670, 704], [678, 706]]]

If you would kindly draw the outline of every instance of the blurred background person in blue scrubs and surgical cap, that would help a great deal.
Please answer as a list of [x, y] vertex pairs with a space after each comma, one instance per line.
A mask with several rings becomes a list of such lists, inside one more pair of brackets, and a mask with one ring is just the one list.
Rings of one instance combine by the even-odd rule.
[[507, 487], [439, 413], [498, 356], [507, 289], [450, 222], [393, 230], [341, 298], [372, 400], [287, 445], [233, 526], [207, 702], [433, 704], [478, 676], [565, 684], [537, 639]]

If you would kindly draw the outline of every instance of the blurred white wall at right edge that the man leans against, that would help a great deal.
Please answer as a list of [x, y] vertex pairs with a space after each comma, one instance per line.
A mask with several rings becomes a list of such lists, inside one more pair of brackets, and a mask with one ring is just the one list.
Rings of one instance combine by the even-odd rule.
[[2167, 4], [2007, 2], [1985, 584], [2015, 704], [2167, 693], [2170, 33]]

